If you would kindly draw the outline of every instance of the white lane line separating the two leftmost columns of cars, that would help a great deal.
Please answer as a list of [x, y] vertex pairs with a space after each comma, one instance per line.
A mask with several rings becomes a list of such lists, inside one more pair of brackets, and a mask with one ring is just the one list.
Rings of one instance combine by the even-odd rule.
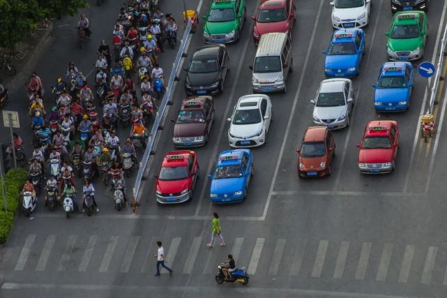
[[[243, 50], [240, 54], [241, 57], [245, 57], [249, 43], [251, 43], [251, 38], [247, 38], [247, 40], [245, 40], [245, 45], [243, 46]], [[230, 61], [230, 63], [231, 63], [231, 61]], [[219, 131], [218, 131], [218, 140], [216, 140], [214, 143], [213, 151], [211, 152], [211, 158], [209, 161], [208, 168], [206, 169], [206, 173], [211, 173], [211, 170], [213, 169], [213, 164], [214, 164], [213, 161], [215, 160], [215, 157], [218, 155], [220, 140], [222, 140], [223, 135], [225, 135], [225, 136], [227, 135], [227, 134], [224, 134], [224, 129], [225, 129], [225, 125], [227, 124], [227, 116], [228, 116], [229, 109], [232, 106], [232, 99], [234, 98], [234, 94], [236, 93], [236, 90], [237, 90], [237, 88], [235, 88], [235, 86], [239, 82], [239, 76], [241, 75], [242, 66], [243, 66], [243, 61], [240, 61], [238, 68], [236, 70], [236, 77], [234, 77], [234, 80], [233, 80], [234, 87], [232, 88], [232, 91], [230, 92], [230, 94], [227, 98], [227, 105], [225, 106], [225, 112], [223, 112], [222, 122], [220, 122]], [[214, 124], [213, 124], [213, 126], [214, 126]], [[202, 189], [200, 190], [199, 203], [197, 204], [197, 207], [196, 207], [195, 213], [194, 213], [195, 216], [199, 215], [200, 209], [202, 208], [201, 203], [209, 202], [209, 200], [204, 199], [206, 189], [209, 187], [208, 186], [209, 185], [208, 176], [205, 175], [203, 183], [204, 184], [202, 186]], [[211, 205], [212, 204], [209, 202], [209, 207], [211, 207]]]

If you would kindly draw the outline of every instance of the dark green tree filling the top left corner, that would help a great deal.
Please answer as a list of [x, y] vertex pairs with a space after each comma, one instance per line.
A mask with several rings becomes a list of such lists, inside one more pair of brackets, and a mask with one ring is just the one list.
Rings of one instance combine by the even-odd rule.
[[0, 12], [0, 45], [12, 52], [43, 20], [43, 10], [36, 0], [0, 0]]

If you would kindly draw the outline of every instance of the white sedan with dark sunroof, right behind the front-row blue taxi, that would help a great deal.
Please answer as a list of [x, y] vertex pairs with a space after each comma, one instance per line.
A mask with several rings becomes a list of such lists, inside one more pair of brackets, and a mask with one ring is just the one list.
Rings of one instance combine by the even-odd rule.
[[238, 99], [230, 121], [228, 140], [231, 147], [257, 147], [266, 143], [272, 120], [270, 97], [252, 94]]

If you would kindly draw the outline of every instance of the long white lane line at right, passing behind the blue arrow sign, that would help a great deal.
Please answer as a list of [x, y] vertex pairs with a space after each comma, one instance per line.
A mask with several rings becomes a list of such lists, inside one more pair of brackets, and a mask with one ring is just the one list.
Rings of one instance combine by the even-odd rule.
[[[444, 0], [444, 8], [442, 8], [441, 20], [439, 21], [439, 24], [444, 24], [444, 18], [446, 17], [446, 9], [447, 9], [447, 0]], [[438, 50], [439, 50], [438, 45], [439, 45], [439, 40], [441, 38], [441, 31], [442, 31], [443, 27], [444, 26], [439, 26], [439, 29], [438, 29], [438, 33], [436, 36], [436, 42], [434, 43], [432, 64], [434, 64], [434, 61], [435, 61], [435, 59], [437, 59], [437, 56], [438, 56]], [[430, 86], [431, 82], [432, 82], [432, 79], [429, 78], [427, 86]], [[428, 87], [425, 87], [424, 98], [422, 100], [422, 105], [421, 105], [421, 112], [419, 112], [420, 117], [425, 113], [424, 109], [425, 109], [425, 105], [427, 103], [427, 97], [428, 97]], [[410, 156], [410, 161], [409, 161], [410, 167], [411, 167], [411, 165], [414, 165], [414, 156], [416, 155], [416, 147], [418, 146], [420, 131], [421, 131], [421, 124], [419, 124], [419, 119], [418, 119], [417, 124], [416, 124], [416, 132], [414, 133], [413, 147], [411, 148], [411, 156]], [[409, 182], [410, 182], [410, 174], [411, 174], [411, 171], [408, 170], [406, 177], [405, 177], [405, 181], [404, 181], [404, 192], [407, 192], [407, 190], [408, 190], [408, 186], [409, 186]], [[427, 182], [427, 185], [428, 185], [428, 182]]]

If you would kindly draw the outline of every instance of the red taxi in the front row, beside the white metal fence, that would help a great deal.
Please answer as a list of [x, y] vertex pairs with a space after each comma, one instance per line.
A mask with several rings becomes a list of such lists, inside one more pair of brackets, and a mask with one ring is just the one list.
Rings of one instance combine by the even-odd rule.
[[158, 204], [178, 204], [191, 200], [199, 179], [197, 154], [189, 150], [168, 152], [156, 179]]

